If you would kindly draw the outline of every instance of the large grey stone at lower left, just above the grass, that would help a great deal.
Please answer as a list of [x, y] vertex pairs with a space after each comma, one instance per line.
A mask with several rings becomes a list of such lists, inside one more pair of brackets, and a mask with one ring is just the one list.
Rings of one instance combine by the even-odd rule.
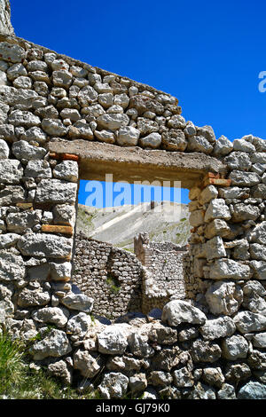
[[40, 342], [36, 342], [31, 352], [35, 360], [43, 360], [43, 358], [53, 357], [59, 358], [69, 353], [72, 348], [66, 337], [66, 333], [62, 330], [52, 329], [49, 334]]

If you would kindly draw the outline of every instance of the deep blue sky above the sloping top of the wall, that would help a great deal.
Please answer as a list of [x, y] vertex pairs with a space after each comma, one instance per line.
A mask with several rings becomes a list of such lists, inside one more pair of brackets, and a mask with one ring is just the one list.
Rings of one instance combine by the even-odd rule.
[[11, 4], [16, 35], [176, 96], [217, 138], [266, 138], [265, 1]]

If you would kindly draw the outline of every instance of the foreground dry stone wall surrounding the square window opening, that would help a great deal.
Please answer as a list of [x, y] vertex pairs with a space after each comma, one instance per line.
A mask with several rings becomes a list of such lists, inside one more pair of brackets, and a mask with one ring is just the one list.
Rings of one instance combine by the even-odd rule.
[[[265, 140], [216, 139], [176, 98], [14, 36], [0, 35], [0, 54], [3, 327], [36, 337], [33, 361], [51, 374], [86, 377], [105, 398], [265, 398]], [[195, 301], [93, 325], [93, 299], [69, 282], [79, 160], [49, 153], [54, 138], [223, 161], [190, 191]]]

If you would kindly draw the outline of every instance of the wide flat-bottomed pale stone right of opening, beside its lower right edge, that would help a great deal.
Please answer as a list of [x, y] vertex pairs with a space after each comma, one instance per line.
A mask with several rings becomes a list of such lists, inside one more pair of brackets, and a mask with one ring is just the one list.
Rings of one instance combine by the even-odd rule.
[[251, 273], [248, 265], [223, 258], [215, 260], [209, 275], [211, 279], [249, 279]]

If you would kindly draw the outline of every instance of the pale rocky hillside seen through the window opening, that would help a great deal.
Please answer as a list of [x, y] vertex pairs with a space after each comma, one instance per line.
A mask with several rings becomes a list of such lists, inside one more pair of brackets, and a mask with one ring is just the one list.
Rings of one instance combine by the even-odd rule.
[[139, 232], [148, 232], [154, 241], [169, 240], [182, 246], [187, 242], [191, 228], [187, 205], [165, 202], [151, 209], [150, 203], [144, 203], [142, 208], [145, 211], [140, 205], [106, 211], [79, 204], [76, 232], [129, 250]]

